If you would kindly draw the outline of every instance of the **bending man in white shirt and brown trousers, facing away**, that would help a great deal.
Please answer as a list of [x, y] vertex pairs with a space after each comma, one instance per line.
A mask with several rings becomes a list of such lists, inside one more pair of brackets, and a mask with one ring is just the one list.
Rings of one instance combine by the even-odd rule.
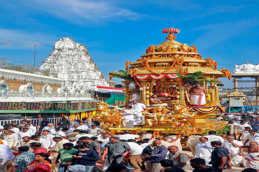
[[129, 164], [134, 167], [135, 171], [136, 170], [141, 170], [142, 166], [142, 159], [141, 159], [141, 153], [143, 151], [143, 147], [139, 146], [136, 142], [135, 139], [129, 139], [127, 140], [128, 145], [130, 147], [130, 155], [128, 158]]

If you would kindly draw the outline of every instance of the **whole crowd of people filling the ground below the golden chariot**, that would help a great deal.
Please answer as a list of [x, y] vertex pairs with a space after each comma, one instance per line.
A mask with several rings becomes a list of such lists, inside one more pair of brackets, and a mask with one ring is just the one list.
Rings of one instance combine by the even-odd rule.
[[[259, 127], [259, 121], [248, 114], [233, 121], [224, 116], [218, 120], [229, 120], [230, 125], [237, 125], [238, 140], [230, 135], [224, 139], [217, 136], [216, 131], [209, 131], [202, 137], [191, 135], [187, 140], [193, 154], [190, 164], [180, 139], [168, 142], [175, 140], [176, 135], [158, 140], [151, 139], [153, 131], [136, 135], [125, 130], [114, 136], [102, 130], [98, 121], [93, 120], [90, 124], [86, 118], [78, 119], [72, 125], [66, 118], [57, 125], [44, 118], [39, 129], [30, 120], [22, 120], [19, 124], [11, 121], [0, 126], [3, 131], [0, 172], [119, 172], [128, 170], [125, 166], [133, 171], [187, 172], [193, 167], [193, 172], [220, 172], [233, 165], [259, 170], [256, 127]], [[245, 155], [244, 149], [247, 149]], [[96, 165], [98, 160], [105, 161], [101, 169]]]

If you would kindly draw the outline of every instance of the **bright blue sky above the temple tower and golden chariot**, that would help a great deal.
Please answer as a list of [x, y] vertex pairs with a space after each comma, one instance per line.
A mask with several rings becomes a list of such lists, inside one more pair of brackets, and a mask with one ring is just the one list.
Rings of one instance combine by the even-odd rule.
[[[0, 39], [55, 42], [71, 37], [87, 45], [108, 77], [149, 45], [165, 41], [161, 31], [174, 27], [181, 30], [177, 41], [195, 45], [203, 58], [218, 61], [219, 69], [232, 70], [246, 61], [259, 63], [258, 9], [259, 1], [0, 1]], [[51, 49], [37, 47], [36, 63]], [[33, 47], [0, 44], [0, 57], [32, 64]]]

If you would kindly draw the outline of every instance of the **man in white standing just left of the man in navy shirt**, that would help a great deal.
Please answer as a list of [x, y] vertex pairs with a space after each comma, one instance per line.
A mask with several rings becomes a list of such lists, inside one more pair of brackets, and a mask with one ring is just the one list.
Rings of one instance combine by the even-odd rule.
[[211, 142], [208, 142], [208, 138], [200, 137], [200, 143], [196, 145], [196, 156], [195, 158], [202, 158], [205, 160], [206, 165], [211, 161], [211, 152], [213, 148]]

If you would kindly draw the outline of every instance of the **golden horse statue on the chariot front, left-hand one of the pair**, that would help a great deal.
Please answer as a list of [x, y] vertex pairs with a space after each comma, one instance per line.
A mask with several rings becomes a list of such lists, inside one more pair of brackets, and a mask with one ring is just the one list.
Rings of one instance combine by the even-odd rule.
[[113, 125], [116, 128], [121, 128], [122, 116], [120, 113], [123, 111], [111, 112], [106, 102], [99, 102], [96, 104], [96, 114], [92, 118], [96, 121], [101, 121], [100, 127], [110, 128]]

